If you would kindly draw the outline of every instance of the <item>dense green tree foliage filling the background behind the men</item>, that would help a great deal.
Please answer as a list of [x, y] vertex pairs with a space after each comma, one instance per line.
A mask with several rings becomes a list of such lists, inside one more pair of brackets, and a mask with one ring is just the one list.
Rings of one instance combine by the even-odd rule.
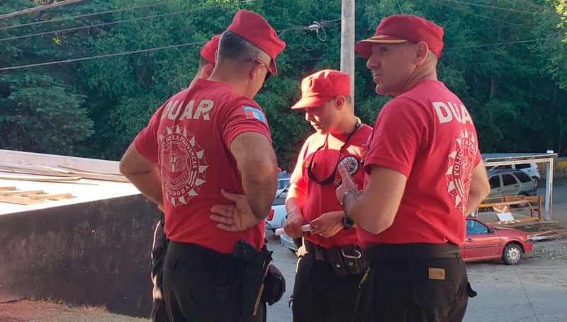
[[[51, 2], [4, 1], [0, 13]], [[82, 1], [0, 19], [0, 69], [99, 57], [0, 71], [0, 148], [118, 159], [155, 109], [188, 86], [203, 43], [247, 8], [287, 43], [279, 75], [255, 99], [291, 170], [312, 130], [289, 106], [304, 76], [339, 69], [341, 2]], [[357, 1], [357, 40], [394, 13], [444, 27], [439, 79], [471, 111], [482, 151], [567, 155], [565, 0]], [[373, 125], [390, 98], [376, 96], [359, 56], [354, 79], [357, 115]]]

